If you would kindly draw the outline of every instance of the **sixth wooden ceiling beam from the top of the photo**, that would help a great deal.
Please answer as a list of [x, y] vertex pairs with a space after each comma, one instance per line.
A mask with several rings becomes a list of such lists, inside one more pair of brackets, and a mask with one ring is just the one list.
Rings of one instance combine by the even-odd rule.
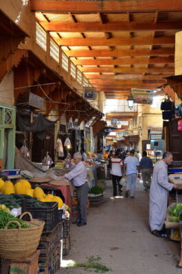
[[174, 74], [174, 67], [154, 67], [154, 68], [115, 68], [112, 67], [101, 67], [96, 68], [95, 66], [83, 66], [79, 67], [83, 73], [163, 73], [163, 74]]

